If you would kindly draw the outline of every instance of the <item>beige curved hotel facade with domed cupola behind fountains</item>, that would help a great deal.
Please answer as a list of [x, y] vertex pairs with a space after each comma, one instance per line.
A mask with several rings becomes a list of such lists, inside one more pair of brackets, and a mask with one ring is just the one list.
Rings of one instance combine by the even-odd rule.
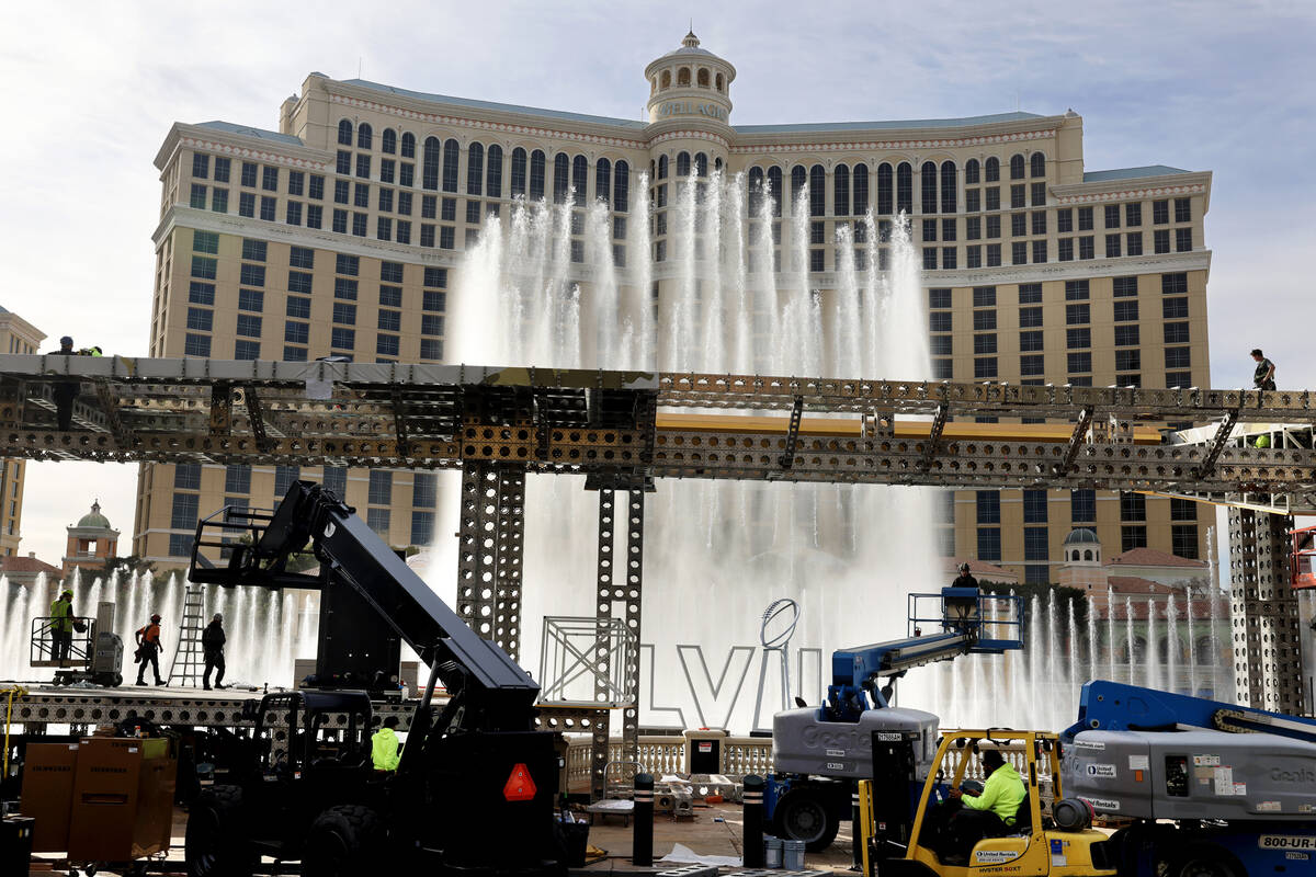
[[[311, 74], [279, 108], [276, 131], [175, 124], [155, 158], [151, 355], [442, 362], [463, 250], [517, 199], [603, 199], [621, 267], [628, 227], [649, 218], [662, 296], [667, 187], [722, 171], [745, 174], [751, 210], [765, 185], [808, 187], [799, 209], [822, 291], [837, 285], [838, 226], [858, 230], [869, 210], [908, 214], [938, 379], [1209, 385], [1209, 171], [1088, 171], [1073, 110], [733, 125], [736, 68], [694, 34], [644, 76], [647, 120]], [[645, 178], [651, 217], [636, 212]], [[783, 197], [776, 209], [790, 221], [795, 205]], [[776, 250], [778, 264], [790, 260]], [[859, 242], [855, 258], [883, 268], [886, 246]], [[268, 508], [293, 477], [345, 493], [395, 546], [433, 539], [430, 473], [143, 465], [133, 551], [182, 564], [199, 514]], [[945, 494], [936, 526], [946, 555], [1054, 581], [1075, 526], [1095, 529], [1111, 555], [1148, 546], [1204, 557], [1213, 518], [1200, 514], [1141, 494], [959, 490]]]

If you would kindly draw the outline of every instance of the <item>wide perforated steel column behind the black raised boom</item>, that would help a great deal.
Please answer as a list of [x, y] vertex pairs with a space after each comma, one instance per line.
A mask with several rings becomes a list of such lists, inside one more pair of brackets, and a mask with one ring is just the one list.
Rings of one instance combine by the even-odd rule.
[[521, 546], [525, 469], [462, 467], [457, 614], [513, 659], [521, 647]]

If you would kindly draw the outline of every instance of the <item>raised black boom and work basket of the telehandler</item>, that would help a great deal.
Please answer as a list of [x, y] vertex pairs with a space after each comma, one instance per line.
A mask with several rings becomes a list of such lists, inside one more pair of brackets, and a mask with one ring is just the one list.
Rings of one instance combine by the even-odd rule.
[[[236, 530], [249, 534], [250, 543], [233, 542]], [[308, 546], [320, 561], [318, 572], [290, 572], [290, 557]], [[204, 548], [221, 548], [226, 561], [212, 564]], [[416, 717], [421, 726], [428, 724], [433, 688], [441, 681], [451, 696], [445, 730], [533, 727], [538, 684], [507, 652], [471, 630], [351, 506], [318, 484], [295, 481], [272, 515], [224, 509], [201, 521], [188, 576], [224, 586], [318, 589], [326, 601], [349, 589], [432, 668]], [[321, 623], [347, 635], [345, 627], [368, 627], [371, 619], [337, 611], [328, 619], [322, 613]]]

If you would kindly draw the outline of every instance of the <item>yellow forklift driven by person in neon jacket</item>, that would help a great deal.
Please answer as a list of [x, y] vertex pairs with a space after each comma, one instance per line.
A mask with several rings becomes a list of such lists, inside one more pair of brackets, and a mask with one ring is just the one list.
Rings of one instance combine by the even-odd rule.
[[[916, 735], [873, 732], [873, 780], [859, 781], [859, 840], [866, 877], [1105, 877], [1115, 849], [1092, 830], [1091, 807], [1061, 794], [1059, 740], [1045, 731], [946, 731], [926, 777]], [[1009, 834], [984, 838], [965, 857], [942, 859], [933, 809], [951, 789], [982, 776], [979, 756], [996, 748], [1024, 780], [1028, 795]], [[921, 785], [919, 780], [921, 778]], [[1055, 802], [1044, 806], [1045, 797]]]

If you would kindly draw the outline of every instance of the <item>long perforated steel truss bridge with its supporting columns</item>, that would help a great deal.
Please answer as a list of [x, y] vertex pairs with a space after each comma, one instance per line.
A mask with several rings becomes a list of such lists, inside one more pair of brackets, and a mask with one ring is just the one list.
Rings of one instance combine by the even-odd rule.
[[[53, 389], [71, 381], [82, 391], [76, 429], [59, 431]], [[699, 409], [730, 415], [684, 415]], [[769, 426], [742, 417], [775, 412], [788, 415]], [[819, 415], [842, 419], [819, 429]], [[949, 433], [951, 421], [983, 417], [1075, 426], [1067, 440], [1026, 427]], [[895, 429], [898, 418], [905, 429]], [[1240, 697], [1271, 709], [1299, 702], [1300, 689], [1288, 693], [1283, 680], [1296, 685], [1302, 672], [1287, 639], [1296, 615], [1274, 565], [1286, 525], [1257, 510], [1316, 510], [1316, 440], [1258, 448], [1238, 435], [1313, 421], [1309, 391], [0, 355], [0, 456], [462, 469], [458, 611], [513, 656], [528, 472], [586, 475], [599, 490], [596, 615], [603, 625], [620, 613], [637, 638], [644, 492], [654, 479], [1099, 488], [1240, 506], [1230, 536], [1236, 581], [1246, 582], [1236, 618], [1248, 635], [1236, 648], [1255, 668], [1240, 677]], [[1146, 444], [1129, 440], [1140, 422], [1219, 426]], [[628, 497], [625, 580], [613, 551], [619, 494]], [[626, 671], [638, 696], [638, 665]], [[599, 709], [549, 709], [541, 723], [596, 740], [611, 730]], [[637, 731], [638, 702], [622, 711], [628, 752]], [[595, 792], [604, 751], [595, 748]]]

